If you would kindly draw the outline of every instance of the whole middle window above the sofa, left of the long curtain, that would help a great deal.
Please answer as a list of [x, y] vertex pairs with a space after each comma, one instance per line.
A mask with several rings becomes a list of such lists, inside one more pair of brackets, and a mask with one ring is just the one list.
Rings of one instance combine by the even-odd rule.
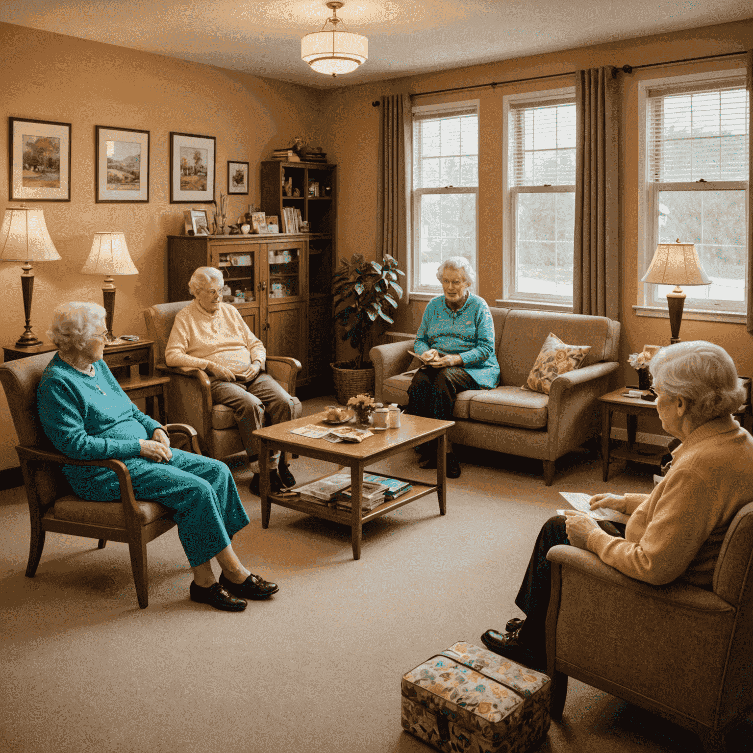
[[504, 299], [572, 306], [575, 90], [505, 97]]

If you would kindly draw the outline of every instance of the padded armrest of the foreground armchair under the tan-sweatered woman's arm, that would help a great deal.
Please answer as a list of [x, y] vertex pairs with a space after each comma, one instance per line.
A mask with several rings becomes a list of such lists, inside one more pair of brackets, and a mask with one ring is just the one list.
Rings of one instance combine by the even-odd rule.
[[[652, 586], [643, 581], [636, 581], [623, 575], [619, 570], [605, 564], [599, 556], [593, 552], [572, 547], [567, 544], [559, 544], [552, 547], [547, 553], [547, 559], [562, 568], [572, 568], [581, 575], [600, 581], [601, 584], [609, 584], [620, 589], [630, 591], [633, 601], [642, 599], [654, 599], [664, 602], [667, 606], [681, 609], [693, 609], [704, 612], [733, 611], [733, 607], [717, 596], [713, 591], [694, 586], [682, 581], [673, 581], [664, 586]], [[564, 577], [564, 576], [563, 576]], [[594, 585], [593, 593], [598, 595], [602, 590], [601, 585]], [[595, 598], [598, 598], [595, 596]]]

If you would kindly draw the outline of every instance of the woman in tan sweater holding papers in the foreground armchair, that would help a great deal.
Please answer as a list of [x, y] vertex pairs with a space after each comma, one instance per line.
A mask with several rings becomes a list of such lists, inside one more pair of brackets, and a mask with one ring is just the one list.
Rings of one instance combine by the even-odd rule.
[[481, 636], [492, 651], [537, 669], [546, 666], [544, 625], [550, 596], [547, 551], [572, 544], [597, 554], [630, 578], [652, 585], [676, 579], [711, 588], [724, 535], [753, 500], [753, 437], [731, 413], [745, 399], [737, 370], [714, 343], [675, 343], [651, 359], [657, 411], [681, 444], [651, 494], [597, 494], [590, 507], [630, 516], [599, 523], [576, 511], [550, 518], [538, 535], [515, 603], [526, 619]]

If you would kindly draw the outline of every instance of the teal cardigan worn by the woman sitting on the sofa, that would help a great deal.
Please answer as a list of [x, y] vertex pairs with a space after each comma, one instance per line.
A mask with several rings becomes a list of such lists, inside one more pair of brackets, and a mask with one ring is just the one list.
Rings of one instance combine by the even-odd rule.
[[435, 348], [462, 358], [462, 366], [481, 389], [494, 389], [499, 381], [499, 364], [494, 352], [492, 312], [483, 298], [468, 294], [462, 308], [453, 311], [444, 295], [428, 302], [414, 349], [421, 353]]

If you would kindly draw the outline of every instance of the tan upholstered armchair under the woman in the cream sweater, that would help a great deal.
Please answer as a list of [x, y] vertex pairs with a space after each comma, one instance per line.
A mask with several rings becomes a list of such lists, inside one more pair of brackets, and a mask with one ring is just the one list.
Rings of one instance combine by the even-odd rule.
[[[173, 368], [165, 364], [165, 348], [175, 315], [189, 303], [190, 300], [157, 303], [144, 310], [144, 319], [149, 339], [154, 340], [157, 369], [170, 375], [170, 383], [166, 386], [169, 419], [195, 426], [202, 452], [221, 460], [245, 449], [236, 426], [235, 412], [226, 405], [212, 404], [212, 389], [205, 371]], [[286, 356], [267, 355], [266, 370], [289, 395], [295, 395], [300, 361]]]

